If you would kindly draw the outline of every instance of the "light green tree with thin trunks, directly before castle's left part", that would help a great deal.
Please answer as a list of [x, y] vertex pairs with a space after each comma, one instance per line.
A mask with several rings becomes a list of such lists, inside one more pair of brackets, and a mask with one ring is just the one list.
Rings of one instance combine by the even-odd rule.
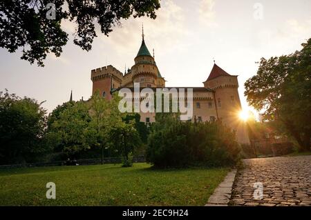
[[135, 130], [133, 115], [122, 113], [118, 109], [120, 97], [113, 93], [113, 99], [107, 100], [96, 91], [90, 101], [91, 132], [90, 139], [93, 145], [102, 149], [102, 163], [104, 149], [112, 148], [120, 152], [124, 158], [124, 166], [131, 166], [129, 153], [133, 151], [140, 137]]

